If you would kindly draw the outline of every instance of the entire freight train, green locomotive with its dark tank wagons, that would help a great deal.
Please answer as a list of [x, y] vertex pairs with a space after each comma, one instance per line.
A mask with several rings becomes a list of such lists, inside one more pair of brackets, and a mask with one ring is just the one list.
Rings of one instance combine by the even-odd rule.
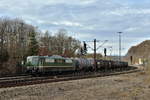
[[127, 62], [111, 60], [94, 60], [88, 58], [66, 58], [53, 56], [28, 56], [26, 62], [27, 73], [47, 73], [66, 71], [95, 71], [109, 69], [124, 69]]

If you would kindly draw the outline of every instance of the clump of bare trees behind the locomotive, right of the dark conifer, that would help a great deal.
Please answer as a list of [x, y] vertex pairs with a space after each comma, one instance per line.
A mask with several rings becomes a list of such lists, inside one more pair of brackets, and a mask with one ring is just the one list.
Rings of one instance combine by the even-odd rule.
[[41, 44], [45, 50], [48, 51], [47, 55], [63, 55], [72, 57], [75, 51], [80, 47], [80, 41], [67, 36], [67, 31], [64, 29], [59, 30], [55, 36], [50, 36], [48, 32], [41, 37]]

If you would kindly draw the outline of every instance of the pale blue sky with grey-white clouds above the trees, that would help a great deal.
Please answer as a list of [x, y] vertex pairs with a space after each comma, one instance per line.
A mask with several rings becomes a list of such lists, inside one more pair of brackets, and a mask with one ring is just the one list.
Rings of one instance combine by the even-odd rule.
[[42, 31], [66, 29], [80, 41], [109, 40], [104, 47], [112, 46], [112, 55], [118, 54], [121, 31], [124, 55], [150, 39], [149, 5], [150, 0], [0, 0], [0, 16], [21, 18]]

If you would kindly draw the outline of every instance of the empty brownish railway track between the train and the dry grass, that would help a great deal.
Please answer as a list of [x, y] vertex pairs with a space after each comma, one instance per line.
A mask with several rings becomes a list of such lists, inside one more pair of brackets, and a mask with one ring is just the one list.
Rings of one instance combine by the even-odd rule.
[[51, 82], [60, 82], [60, 81], [69, 81], [85, 78], [95, 78], [95, 77], [104, 77], [111, 75], [120, 75], [133, 72], [139, 72], [141, 70], [136, 68], [129, 68], [124, 71], [109, 71], [109, 72], [87, 72], [87, 73], [76, 73], [68, 75], [58, 75], [58, 76], [42, 76], [42, 77], [32, 77], [32, 76], [20, 76], [20, 77], [7, 77], [0, 78], [0, 88], [7, 87], [16, 87], [16, 86], [26, 86], [34, 85], [41, 83], [51, 83]]

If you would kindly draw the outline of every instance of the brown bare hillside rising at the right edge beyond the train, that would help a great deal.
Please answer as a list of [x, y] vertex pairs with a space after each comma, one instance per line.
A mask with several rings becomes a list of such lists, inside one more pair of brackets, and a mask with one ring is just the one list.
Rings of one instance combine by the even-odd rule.
[[[131, 57], [132, 56], [132, 57]], [[140, 64], [148, 59], [150, 59], [150, 40], [143, 41], [137, 46], [132, 46], [125, 59], [134, 64]]]

